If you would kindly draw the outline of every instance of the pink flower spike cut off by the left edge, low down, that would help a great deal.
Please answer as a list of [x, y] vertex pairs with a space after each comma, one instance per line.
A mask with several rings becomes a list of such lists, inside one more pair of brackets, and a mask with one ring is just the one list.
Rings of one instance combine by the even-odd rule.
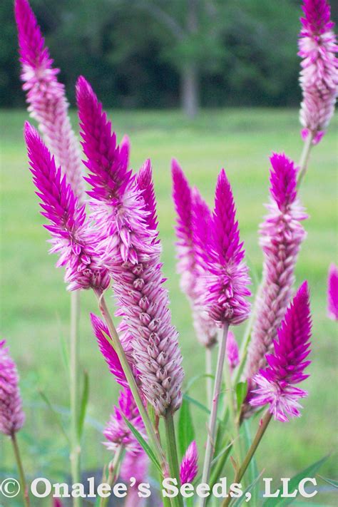
[[16, 364], [5, 345], [4, 340], [0, 341], [0, 432], [14, 436], [24, 426], [25, 414]]

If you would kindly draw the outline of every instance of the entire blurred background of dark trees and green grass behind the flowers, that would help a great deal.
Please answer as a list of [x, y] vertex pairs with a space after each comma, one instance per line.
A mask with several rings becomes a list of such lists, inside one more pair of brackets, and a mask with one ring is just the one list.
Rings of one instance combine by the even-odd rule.
[[[272, 150], [283, 150], [297, 161], [302, 150], [297, 111], [299, 4], [287, 0], [32, 1], [71, 100], [73, 83], [83, 73], [104, 105], [113, 108], [109, 116], [118, 138], [124, 133], [130, 136], [132, 167], [139, 168], [145, 158], [152, 160], [163, 269], [187, 380], [203, 372], [204, 354], [175, 274], [170, 160], [178, 158], [210, 205], [217, 173], [225, 167], [247, 260], [259, 277], [262, 253], [257, 226], [268, 197], [268, 157]], [[61, 481], [68, 477], [68, 448], [39, 391], [48, 396], [67, 427], [68, 377], [62, 342], [68, 339], [69, 295], [62, 270], [53, 267], [56, 257], [47, 255], [48, 235], [41, 227], [28, 170], [22, 137], [28, 116], [11, 11], [10, 1], [1, 4], [1, 333], [21, 373], [27, 421], [19, 439], [27, 473], [31, 478]], [[174, 42], [163, 16], [183, 26], [183, 41]], [[75, 112], [72, 120], [77, 130]], [[272, 423], [257, 454], [260, 470], [274, 477], [276, 486], [278, 478], [292, 476], [337, 445], [337, 325], [326, 314], [327, 269], [337, 257], [337, 124], [335, 118], [312, 150], [301, 189], [309, 219], [297, 285], [307, 278], [312, 292], [311, 377], [304, 382], [309, 396], [304, 399], [302, 419]], [[113, 308], [112, 298], [110, 303]], [[116, 402], [117, 388], [91, 334], [88, 315], [96, 312], [91, 292], [83, 292], [81, 307], [81, 369], [88, 372], [91, 389], [83, 468], [91, 473], [109, 460], [101, 431]], [[240, 341], [242, 327], [235, 334]], [[205, 401], [203, 380], [191, 394]], [[193, 416], [203, 454], [205, 414], [195, 408]], [[11, 472], [15, 475], [9, 441], [0, 437], [0, 478]], [[321, 473], [337, 476], [334, 456]], [[307, 503], [337, 505], [337, 496], [324, 484]]]

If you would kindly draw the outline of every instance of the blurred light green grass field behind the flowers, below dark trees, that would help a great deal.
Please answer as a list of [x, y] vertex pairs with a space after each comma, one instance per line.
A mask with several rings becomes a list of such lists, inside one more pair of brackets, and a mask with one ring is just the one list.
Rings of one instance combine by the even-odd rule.
[[[163, 269], [168, 277], [173, 322], [180, 332], [186, 379], [190, 379], [203, 372], [204, 356], [175, 274], [170, 159], [178, 159], [190, 182], [198, 185], [210, 204], [217, 173], [225, 167], [235, 194], [247, 260], [260, 276], [262, 254], [257, 245], [257, 226], [265, 213], [263, 203], [267, 202], [268, 157], [272, 150], [285, 150], [294, 160], [299, 159], [302, 141], [297, 111], [203, 111], [194, 123], [175, 111], [113, 111], [110, 116], [118, 137], [123, 133], [130, 136], [132, 167], [138, 168], [145, 158], [153, 163]], [[31, 476], [48, 476], [56, 481], [68, 473], [68, 451], [39, 390], [56, 405], [67, 425], [68, 379], [61, 343], [67, 339], [69, 295], [63, 285], [63, 271], [54, 268], [56, 257], [47, 255], [48, 235], [41, 227], [22, 138], [26, 112], [2, 111], [0, 118], [1, 334], [8, 340], [21, 372], [27, 421], [20, 438], [27, 471]], [[305, 223], [308, 237], [297, 265], [297, 284], [307, 278], [312, 293], [312, 365], [311, 377], [304, 382], [309, 396], [304, 399], [302, 418], [287, 424], [272, 423], [257, 454], [260, 470], [265, 468], [265, 476], [274, 477], [276, 486], [278, 478], [292, 476], [337, 445], [337, 324], [326, 315], [327, 269], [337, 258], [337, 124], [336, 118], [329, 133], [312, 150], [300, 193], [309, 220]], [[89, 470], [108, 461], [99, 431], [116, 401], [117, 389], [91, 334], [88, 314], [96, 312], [91, 292], [83, 292], [81, 306], [81, 367], [88, 371], [91, 384], [83, 441], [83, 468]], [[241, 331], [235, 330], [239, 341]], [[195, 384], [191, 394], [205, 401], [203, 381]], [[197, 434], [205, 435], [205, 414], [194, 408], [193, 415]], [[202, 451], [203, 440], [199, 438], [198, 444]], [[1, 438], [0, 456], [0, 473], [14, 470], [9, 442]], [[322, 475], [337, 477], [334, 461], [332, 456], [322, 468]], [[312, 502], [337, 505], [334, 497], [325, 493]]]

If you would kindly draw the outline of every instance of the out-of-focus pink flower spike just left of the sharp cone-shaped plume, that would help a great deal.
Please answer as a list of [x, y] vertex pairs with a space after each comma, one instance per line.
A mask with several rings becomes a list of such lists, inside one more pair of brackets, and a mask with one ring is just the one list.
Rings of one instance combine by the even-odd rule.
[[180, 287], [188, 297], [193, 312], [196, 336], [205, 347], [216, 342], [215, 325], [203, 306], [200, 305], [198, 278], [205, 272], [203, 258], [198, 249], [208, 242], [211, 215], [197, 188], [190, 189], [180, 165], [173, 160], [173, 200], [177, 214], [176, 235], [178, 242], [178, 273]]

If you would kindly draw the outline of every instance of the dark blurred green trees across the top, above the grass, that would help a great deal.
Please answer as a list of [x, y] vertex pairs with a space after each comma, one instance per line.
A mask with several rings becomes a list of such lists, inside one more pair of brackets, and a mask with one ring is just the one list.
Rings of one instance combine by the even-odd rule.
[[[301, 0], [31, 0], [68, 96], [83, 73], [110, 107], [293, 106]], [[333, 15], [337, 6], [332, 2]], [[335, 13], [335, 14], [334, 14]], [[334, 16], [333, 16], [334, 17]], [[11, 0], [0, 100], [22, 106]]]

